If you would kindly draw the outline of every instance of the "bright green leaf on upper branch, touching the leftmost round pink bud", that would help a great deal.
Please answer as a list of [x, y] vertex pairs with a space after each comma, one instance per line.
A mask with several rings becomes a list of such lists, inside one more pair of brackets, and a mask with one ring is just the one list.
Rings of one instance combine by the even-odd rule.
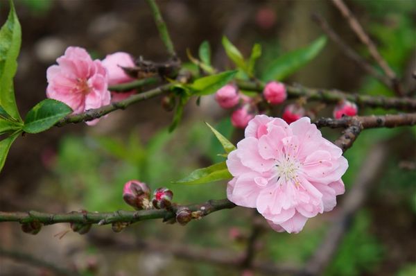
[[215, 93], [218, 89], [229, 83], [237, 71], [224, 71], [223, 73], [198, 78], [189, 88], [196, 90], [193, 95], [204, 96]]

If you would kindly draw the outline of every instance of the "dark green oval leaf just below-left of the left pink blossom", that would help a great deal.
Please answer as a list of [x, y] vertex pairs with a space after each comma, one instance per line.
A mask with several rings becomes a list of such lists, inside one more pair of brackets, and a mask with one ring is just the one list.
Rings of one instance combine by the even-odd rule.
[[71, 107], [68, 105], [51, 98], [46, 98], [46, 100], [37, 103], [26, 114], [23, 130], [28, 133], [45, 131], [71, 112]]

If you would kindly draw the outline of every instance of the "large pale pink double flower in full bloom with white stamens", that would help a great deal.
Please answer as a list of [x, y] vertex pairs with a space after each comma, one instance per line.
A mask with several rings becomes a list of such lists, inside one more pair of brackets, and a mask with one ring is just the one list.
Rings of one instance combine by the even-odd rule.
[[307, 117], [288, 125], [257, 115], [228, 155], [234, 178], [227, 197], [257, 208], [276, 231], [300, 232], [308, 218], [331, 211], [344, 193], [341, 176], [348, 163], [342, 154]]

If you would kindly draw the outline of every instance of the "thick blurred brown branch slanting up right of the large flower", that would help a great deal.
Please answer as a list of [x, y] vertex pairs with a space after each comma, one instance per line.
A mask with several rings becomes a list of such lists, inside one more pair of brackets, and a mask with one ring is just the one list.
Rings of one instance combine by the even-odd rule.
[[311, 259], [309, 259], [304, 270], [300, 275], [322, 275], [331, 259], [336, 254], [336, 250], [340, 245], [343, 236], [349, 230], [354, 214], [360, 209], [370, 192], [371, 185], [376, 182], [376, 178], [382, 169], [385, 158], [388, 156], [388, 149], [383, 144], [376, 144], [370, 150], [365, 163], [363, 164], [356, 182], [352, 189], [345, 195], [344, 201], [334, 210], [338, 214], [331, 223], [331, 227], [327, 232], [318, 250], [315, 251]]

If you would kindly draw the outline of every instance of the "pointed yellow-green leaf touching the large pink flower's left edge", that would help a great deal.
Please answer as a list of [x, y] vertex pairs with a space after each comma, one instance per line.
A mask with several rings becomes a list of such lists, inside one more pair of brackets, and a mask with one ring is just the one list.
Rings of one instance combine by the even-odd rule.
[[193, 171], [186, 178], [182, 178], [175, 184], [204, 184], [209, 182], [215, 182], [219, 180], [226, 180], [232, 178], [231, 173], [227, 169], [225, 162], [220, 162], [203, 169], [197, 169]]

